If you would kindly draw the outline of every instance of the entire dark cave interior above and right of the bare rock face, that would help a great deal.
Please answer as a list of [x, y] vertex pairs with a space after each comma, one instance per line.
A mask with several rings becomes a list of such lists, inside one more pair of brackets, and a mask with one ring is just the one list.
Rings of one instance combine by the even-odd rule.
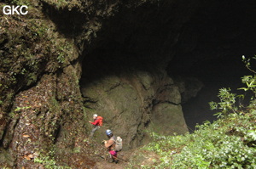
[[185, 21], [179, 20], [182, 6], [149, 4], [132, 13], [124, 9], [107, 20], [93, 48], [84, 52], [82, 77], [91, 82], [106, 74], [155, 66], [166, 67], [170, 76], [195, 76], [204, 87], [183, 104], [185, 120], [193, 131], [197, 123], [216, 119], [208, 102], [218, 101], [219, 88], [230, 87], [236, 93], [242, 87], [241, 76], [252, 74], [241, 56], [255, 54], [256, 2], [201, 1]]

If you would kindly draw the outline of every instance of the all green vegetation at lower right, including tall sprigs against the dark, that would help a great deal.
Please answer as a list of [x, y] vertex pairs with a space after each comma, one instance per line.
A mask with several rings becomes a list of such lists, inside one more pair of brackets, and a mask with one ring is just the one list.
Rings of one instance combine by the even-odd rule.
[[[256, 59], [255, 57], [253, 59]], [[243, 57], [251, 70], [250, 60]], [[253, 73], [255, 73], [253, 71]], [[143, 147], [160, 155], [154, 166], [143, 168], [256, 168], [256, 76], [243, 76], [241, 82], [251, 91], [250, 104], [236, 104], [245, 95], [230, 93], [221, 88], [219, 103], [211, 102], [211, 109], [218, 109], [218, 120], [206, 121], [197, 126], [192, 134], [183, 136], [160, 136], [151, 133], [154, 142]]]

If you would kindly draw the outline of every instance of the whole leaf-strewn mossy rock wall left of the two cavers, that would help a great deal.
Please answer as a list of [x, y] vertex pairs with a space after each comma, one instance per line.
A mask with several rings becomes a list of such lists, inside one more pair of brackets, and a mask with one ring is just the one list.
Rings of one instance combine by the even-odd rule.
[[[54, 167], [56, 162], [59, 166], [90, 167], [94, 164], [90, 153], [94, 152], [85, 145], [83, 153], [76, 151], [86, 140], [88, 131], [79, 89], [80, 53], [82, 44], [89, 44], [92, 38], [89, 27], [93, 25], [88, 20], [101, 17], [98, 20], [101, 23], [115, 9], [111, 3], [100, 7], [93, 2], [79, 6], [84, 1], [0, 4], [3, 7], [17, 3], [26, 4], [28, 14], [4, 15], [3, 8], [0, 10], [0, 167]], [[93, 14], [85, 17], [82, 8], [86, 11], [90, 8]], [[60, 25], [63, 17], [65, 24], [76, 25], [77, 20], [68, 21], [67, 15], [63, 15], [56, 24], [51, 18], [50, 14], [61, 16], [67, 11], [68, 16], [79, 14], [79, 19], [84, 19], [80, 22], [84, 26], [80, 34], [77, 29], [78, 34], [69, 31], [67, 37]], [[98, 29], [95, 27], [94, 32]], [[79, 159], [86, 161], [78, 165]]]

